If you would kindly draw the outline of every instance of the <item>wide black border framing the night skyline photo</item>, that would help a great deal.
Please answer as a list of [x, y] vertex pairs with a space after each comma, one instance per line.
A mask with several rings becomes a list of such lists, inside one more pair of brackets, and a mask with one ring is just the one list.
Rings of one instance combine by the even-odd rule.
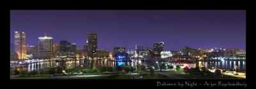
[[[24, 2], [23, 2], [24, 3]], [[31, 2], [30, 2], [31, 3]], [[114, 6], [108, 6], [105, 4], [95, 4], [96, 6], [88, 6], [87, 2], [80, 4], [52, 4], [52, 3], [10, 3], [9, 6], [3, 6], [4, 10], [2, 15], [4, 20], [3, 27], [1, 27], [1, 34], [4, 34], [1, 41], [2, 47], [4, 48], [1, 52], [1, 79], [5, 79], [2, 82], [6, 88], [138, 88], [138, 86], [144, 87], [156, 87], [156, 88], [171, 88], [174, 86], [157, 86], [157, 81], [177, 83], [177, 82], [197, 82], [203, 83], [207, 81], [208, 83], [222, 82], [236, 82], [247, 83], [247, 88], [252, 86], [253, 71], [255, 67], [253, 61], [253, 9], [250, 3], [212, 3], [210, 4], [200, 4], [200, 3], [167, 3], [163, 4], [152, 4], [152, 5], [120, 5], [115, 4]], [[38, 5], [40, 4], [40, 5]], [[51, 4], [51, 5], [49, 5]], [[179, 4], [179, 5], [178, 5]], [[246, 79], [10, 79], [10, 69], [9, 69], [9, 48], [10, 47], [10, 10], [246, 10]], [[255, 39], [254, 39], [255, 40]], [[3, 47], [4, 46], [4, 47]], [[92, 87], [91, 87], [92, 86]], [[180, 86], [176, 86], [179, 88]], [[189, 86], [186, 86], [189, 88]], [[194, 86], [196, 88], [198, 86]], [[239, 86], [227, 86], [229, 88], [239, 88]], [[206, 87], [209, 88], [209, 87]]]

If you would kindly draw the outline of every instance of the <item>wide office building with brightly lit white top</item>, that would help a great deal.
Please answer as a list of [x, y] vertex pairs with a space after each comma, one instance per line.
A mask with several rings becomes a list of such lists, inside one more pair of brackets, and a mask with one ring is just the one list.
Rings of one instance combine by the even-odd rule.
[[52, 52], [52, 37], [38, 37], [38, 52]]

